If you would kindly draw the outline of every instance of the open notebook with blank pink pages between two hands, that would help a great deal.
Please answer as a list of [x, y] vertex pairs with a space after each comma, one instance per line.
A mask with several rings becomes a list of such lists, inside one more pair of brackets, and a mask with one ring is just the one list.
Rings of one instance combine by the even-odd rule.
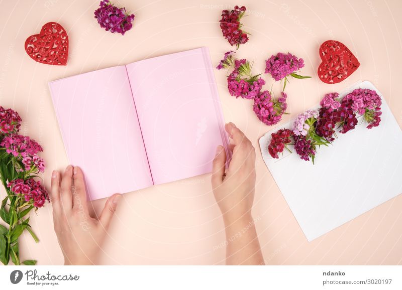
[[69, 162], [91, 200], [212, 170], [226, 146], [208, 48], [49, 83]]

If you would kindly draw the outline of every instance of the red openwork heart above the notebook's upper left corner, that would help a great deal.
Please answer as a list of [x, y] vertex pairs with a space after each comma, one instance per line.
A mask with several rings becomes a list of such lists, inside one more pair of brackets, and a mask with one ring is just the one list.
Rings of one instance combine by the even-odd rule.
[[25, 51], [34, 60], [51, 65], [66, 65], [68, 36], [64, 28], [56, 23], [46, 23], [40, 34], [31, 35], [25, 41]]

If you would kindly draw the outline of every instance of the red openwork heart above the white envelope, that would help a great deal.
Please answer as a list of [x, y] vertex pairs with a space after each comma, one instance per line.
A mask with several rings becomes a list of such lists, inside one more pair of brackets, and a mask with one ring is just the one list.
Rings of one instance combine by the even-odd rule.
[[336, 84], [350, 76], [360, 63], [353, 53], [336, 40], [327, 40], [320, 46], [319, 78], [327, 84]]

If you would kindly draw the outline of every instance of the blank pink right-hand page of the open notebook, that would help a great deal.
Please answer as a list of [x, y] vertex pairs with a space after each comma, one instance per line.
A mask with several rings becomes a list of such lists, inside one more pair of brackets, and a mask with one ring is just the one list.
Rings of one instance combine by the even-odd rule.
[[208, 49], [126, 67], [154, 184], [211, 172], [228, 140]]

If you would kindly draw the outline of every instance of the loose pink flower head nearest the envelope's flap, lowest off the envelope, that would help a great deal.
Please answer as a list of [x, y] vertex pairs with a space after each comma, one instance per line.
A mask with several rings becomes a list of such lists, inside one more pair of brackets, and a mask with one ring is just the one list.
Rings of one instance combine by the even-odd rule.
[[286, 94], [282, 92], [281, 97], [275, 100], [268, 91], [259, 92], [254, 98], [253, 109], [264, 124], [277, 124], [286, 110]]

